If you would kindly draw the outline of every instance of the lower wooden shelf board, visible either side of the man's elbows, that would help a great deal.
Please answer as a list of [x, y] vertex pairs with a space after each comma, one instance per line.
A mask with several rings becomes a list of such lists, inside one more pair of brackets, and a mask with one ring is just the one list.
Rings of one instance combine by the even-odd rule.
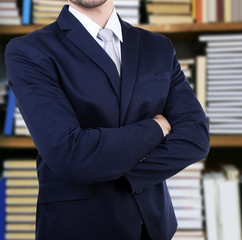
[[[213, 135], [211, 147], [242, 147], [242, 135]], [[0, 148], [35, 148], [30, 137], [0, 136]]]

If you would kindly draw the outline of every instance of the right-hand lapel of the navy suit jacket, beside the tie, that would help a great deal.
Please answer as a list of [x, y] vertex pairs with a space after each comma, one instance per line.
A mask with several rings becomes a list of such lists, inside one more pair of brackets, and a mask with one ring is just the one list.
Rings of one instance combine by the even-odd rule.
[[[119, 18], [120, 19], [120, 18]], [[133, 94], [139, 60], [139, 34], [135, 29], [120, 19], [123, 33], [121, 44], [121, 104], [120, 126], [125, 122], [129, 103]]]

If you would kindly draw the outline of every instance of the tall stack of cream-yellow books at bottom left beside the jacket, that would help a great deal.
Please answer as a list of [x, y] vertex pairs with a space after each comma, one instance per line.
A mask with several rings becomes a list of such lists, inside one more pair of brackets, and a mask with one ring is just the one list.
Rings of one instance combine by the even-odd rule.
[[5, 240], [35, 239], [38, 195], [36, 160], [6, 159]]

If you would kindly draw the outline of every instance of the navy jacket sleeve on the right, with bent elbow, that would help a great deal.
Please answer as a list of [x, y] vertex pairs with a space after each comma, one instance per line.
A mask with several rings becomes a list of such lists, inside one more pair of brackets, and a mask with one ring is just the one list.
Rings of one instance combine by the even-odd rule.
[[209, 151], [207, 118], [168, 41], [173, 55], [172, 75], [163, 115], [171, 124], [172, 131], [134, 169], [119, 179], [132, 193], [168, 179], [204, 159]]

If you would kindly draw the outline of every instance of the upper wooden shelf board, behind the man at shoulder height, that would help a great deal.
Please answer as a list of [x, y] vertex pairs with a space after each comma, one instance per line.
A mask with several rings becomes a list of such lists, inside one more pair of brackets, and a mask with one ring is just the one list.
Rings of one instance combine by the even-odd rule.
[[[43, 25], [0, 25], [1, 35], [21, 35], [44, 27]], [[156, 33], [179, 34], [199, 32], [233, 32], [242, 30], [242, 22], [234, 23], [207, 23], [207, 24], [160, 24], [160, 25], [137, 25], [137, 27]]]

